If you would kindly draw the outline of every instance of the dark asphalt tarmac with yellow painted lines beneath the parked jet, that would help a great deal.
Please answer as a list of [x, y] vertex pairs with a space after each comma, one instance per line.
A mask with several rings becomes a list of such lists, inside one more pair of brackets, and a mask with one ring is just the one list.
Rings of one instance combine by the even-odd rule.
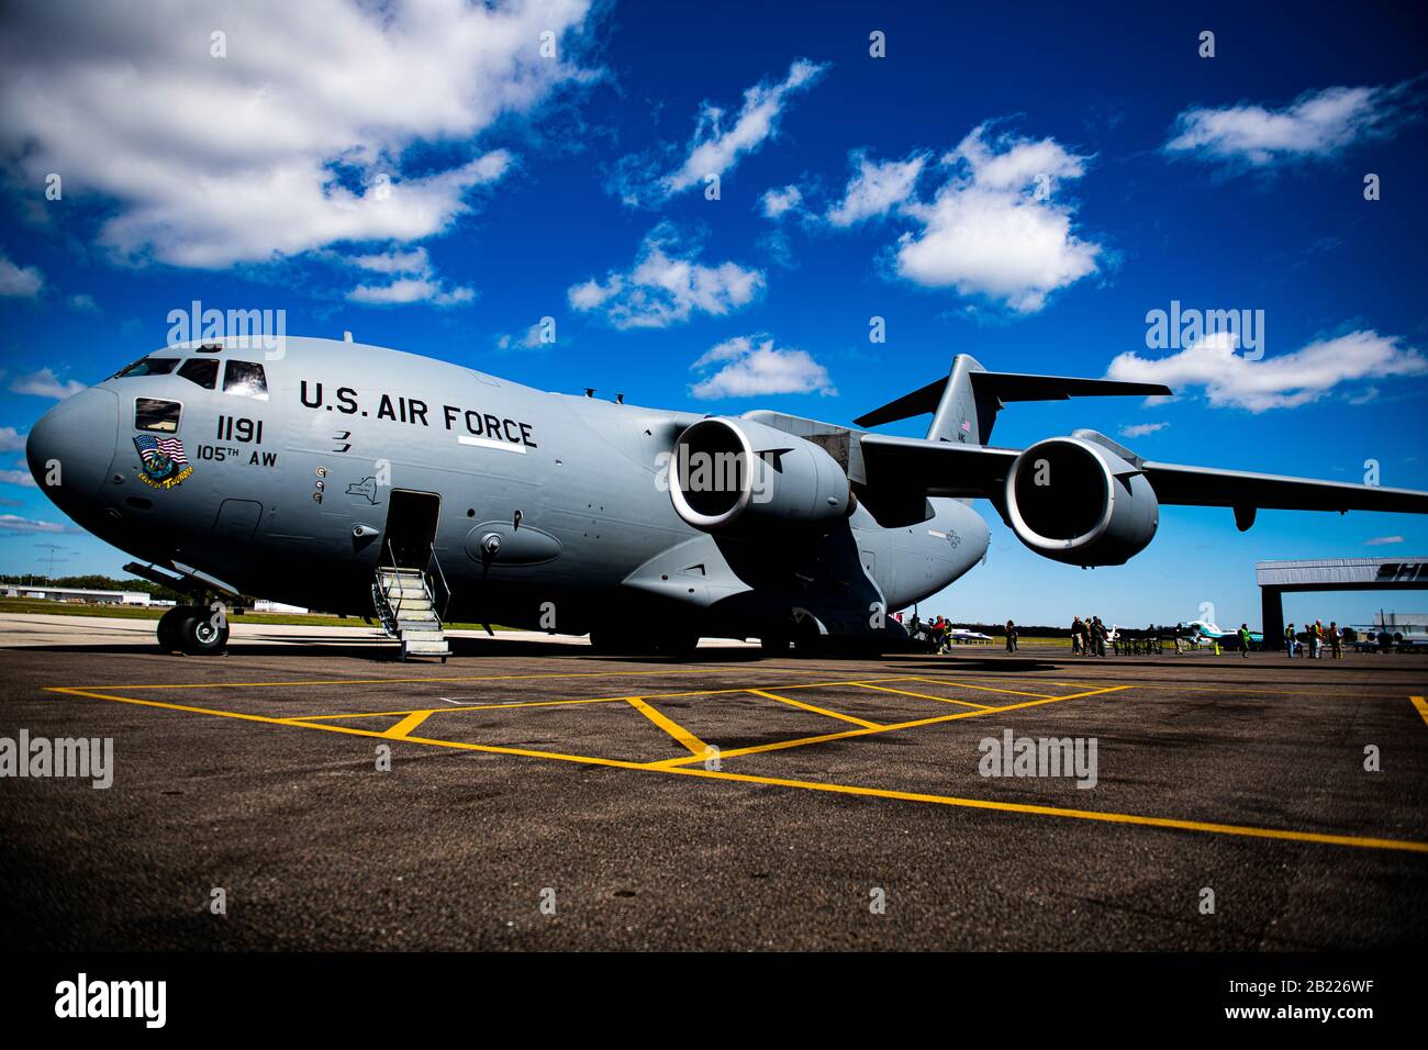
[[[464, 637], [443, 666], [63, 620], [0, 617], [0, 746], [111, 739], [113, 784], [0, 779], [7, 950], [1428, 940], [1425, 657]], [[1020, 739], [1081, 766], [987, 776]]]

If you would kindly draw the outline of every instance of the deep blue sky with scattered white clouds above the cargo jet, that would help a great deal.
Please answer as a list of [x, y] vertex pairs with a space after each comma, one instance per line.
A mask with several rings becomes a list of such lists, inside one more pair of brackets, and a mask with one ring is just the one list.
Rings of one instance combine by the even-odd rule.
[[[1155, 460], [1354, 481], [1377, 460], [1428, 489], [1421, 29], [1399, 4], [1247, 7], [7, 7], [0, 570], [44, 571], [53, 543], [57, 574], [119, 571], [24, 483], [23, 434], [191, 300], [553, 390], [838, 423], [958, 351], [1134, 373], [1180, 397], [1017, 404], [994, 441], [1094, 427]], [[1262, 356], [1147, 346], [1172, 300], [1262, 310]], [[994, 520], [988, 564], [925, 609], [1257, 623], [1255, 560], [1367, 556], [1428, 556], [1428, 530], [1265, 511], [1241, 534], [1172, 507], [1088, 573]]]

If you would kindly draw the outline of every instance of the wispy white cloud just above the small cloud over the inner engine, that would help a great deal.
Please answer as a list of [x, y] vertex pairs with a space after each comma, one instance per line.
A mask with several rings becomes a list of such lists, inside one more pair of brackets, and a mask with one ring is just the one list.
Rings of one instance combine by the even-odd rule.
[[617, 329], [664, 329], [694, 313], [724, 316], [764, 289], [761, 270], [737, 263], [704, 266], [698, 247], [681, 250], [674, 227], [661, 223], [644, 239], [628, 273], [611, 270], [567, 291], [580, 311], [604, 310]]

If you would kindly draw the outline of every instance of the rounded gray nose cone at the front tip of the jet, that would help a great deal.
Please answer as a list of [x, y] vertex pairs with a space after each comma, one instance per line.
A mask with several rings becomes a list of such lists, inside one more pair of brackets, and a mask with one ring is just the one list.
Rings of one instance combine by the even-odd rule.
[[[24, 459], [36, 483], [60, 507], [96, 496], [114, 459], [119, 397], [89, 387], [50, 409], [30, 427]], [[67, 509], [67, 507], [66, 507]]]

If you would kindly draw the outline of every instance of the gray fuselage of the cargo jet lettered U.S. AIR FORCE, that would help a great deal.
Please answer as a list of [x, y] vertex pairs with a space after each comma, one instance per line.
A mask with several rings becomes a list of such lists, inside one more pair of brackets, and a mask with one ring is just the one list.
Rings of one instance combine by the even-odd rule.
[[[247, 596], [370, 616], [378, 561], [403, 541], [388, 510], [436, 510], [433, 497], [447, 619], [573, 634], [627, 619], [758, 637], [797, 610], [867, 634], [987, 550], [985, 521], [951, 499], [901, 529], [863, 507], [818, 527], [694, 529], [665, 470], [694, 413], [334, 340], [146, 360], [176, 364], [61, 401], [31, 430], [30, 469], [96, 536]], [[234, 361], [261, 366], [266, 390]]]

